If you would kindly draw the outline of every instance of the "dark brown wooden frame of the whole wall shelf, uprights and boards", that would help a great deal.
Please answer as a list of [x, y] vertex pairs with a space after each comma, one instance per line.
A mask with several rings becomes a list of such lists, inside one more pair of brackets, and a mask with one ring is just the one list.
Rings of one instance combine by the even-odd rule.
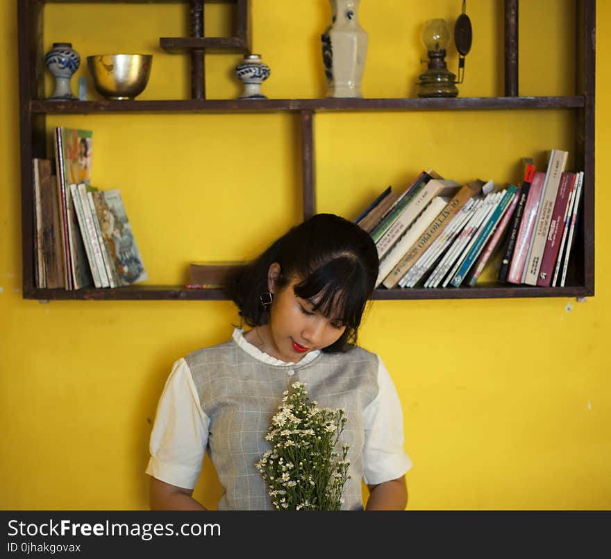
[[[546, 110], [575, 112], [576, 168], [583, 169], [583, 218], [578, 223], [571, 277], [563, 288], [487, 284], [473, 288], [378, 289], [374, 299], [419, 300], [460, 298], [587, 297], [594, 295], [594, 116], [596, 67], [596, 0], [576, 0], [576, 92], [574, 96], [519, 96], [517, 84], [517, 0], [506, 3], [505, 96], [472, 98], [369, 99], [189, 99], [158, 101], [44, 100], [42, 17], [44, 0], [18, 0], [19, 99], [21, 129], [23, 296], [37, 300], [224, 300], [219, 289], [183, 289], [183, 286], [128, 286], [77, 291], [37, 289], [33, 271], [33, 157], [47, 157], [47, 114], [227, 113], [290, 112], [300, 114], [303, 217], [316, 213], [315, 115], [319, 112]], [[72, 0], [47, 0], [69, 2]], [[113, 3], [113, 0], [94, 0]], [[133, 3], [149, 0], [128, 0]], [[175, 0], [180, 1], [180, 0]], [[183, 0], [184, 1], [184, 0]], [[206, 0], [208, 1], [208, 0]], [[226, 0], [219, 0], [226, 1]], [[228, 0], [235, 3], [237, 0]], [[125, 3], [125, 2], [124, 2]], [[149, 2], [151, 3], [151, 2]], [[152, 2], [154, 3], [154, 2]], [[159, 3], [163, 3], [160, 1]], [[571, 266], [569, 266], [571, 268]]]

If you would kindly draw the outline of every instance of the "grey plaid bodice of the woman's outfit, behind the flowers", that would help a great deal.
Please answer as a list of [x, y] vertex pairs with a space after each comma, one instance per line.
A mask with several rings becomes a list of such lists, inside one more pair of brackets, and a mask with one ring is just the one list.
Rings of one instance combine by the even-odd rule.
[[354, 347], [346, 353], [320, 352], [303, 364], [271, 365], [232, 339], [193, 352], [185, 361], [210, 419], [206, 451], [224, 488], [219, 510], [273, 509], [256, 463], [270, 448], [265, 434], [271, 417], [295, 381], [305, 383], [320, 408], [346, 411], [340, 442], [350, 446], [351, 479], [344, 486], [342, 510], [362, 510], [363, 411], [378, 394], [375, 354]]

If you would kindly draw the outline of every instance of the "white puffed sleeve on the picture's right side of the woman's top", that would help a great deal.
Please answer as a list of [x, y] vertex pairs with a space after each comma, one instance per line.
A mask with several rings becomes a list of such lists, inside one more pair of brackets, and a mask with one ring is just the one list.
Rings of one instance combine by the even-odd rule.
[[375, 485], [401, 477], [412, 467], [403, 450], [401, 401], [388, 371], [378, 356], [378, 395], [363, 413], [365, 447], [363, 479]]

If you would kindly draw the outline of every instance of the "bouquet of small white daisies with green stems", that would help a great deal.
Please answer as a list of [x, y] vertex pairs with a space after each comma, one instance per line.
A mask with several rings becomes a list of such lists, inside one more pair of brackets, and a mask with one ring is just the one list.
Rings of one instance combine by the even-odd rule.
[[272, 448], [257, 468], [276, 510], [340, 510], [350, 479], [348, 445], [341, 457], [335, 450], [347, 421], [344, 410], [318, 408], [301, 382], [291, 387], [271, 418], [265, 440]]

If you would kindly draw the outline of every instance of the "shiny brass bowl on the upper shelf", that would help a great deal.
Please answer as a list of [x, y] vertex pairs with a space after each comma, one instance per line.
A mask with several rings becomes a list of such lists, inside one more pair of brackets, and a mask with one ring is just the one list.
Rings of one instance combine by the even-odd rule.
[[147, 87], [152, 54], [87, 56], [87, 67], [99, 94], [107, 99], [133, 99]]

